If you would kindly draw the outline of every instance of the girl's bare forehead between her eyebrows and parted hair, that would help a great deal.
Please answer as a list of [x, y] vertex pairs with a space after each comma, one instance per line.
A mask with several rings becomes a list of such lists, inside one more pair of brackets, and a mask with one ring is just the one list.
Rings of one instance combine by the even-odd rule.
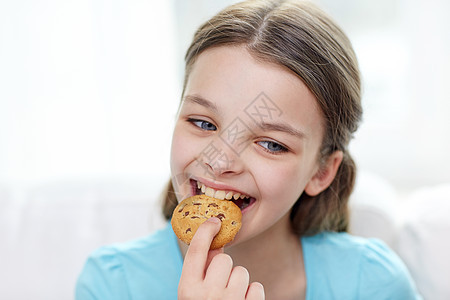
[[185, 95], [200, 95], [224, 112], [259, 107], [305, 131], [322, 130], [321, 111], [303, 81], [283, 66], [256, 60], [243, 46], [202, 52], [192, 66]]

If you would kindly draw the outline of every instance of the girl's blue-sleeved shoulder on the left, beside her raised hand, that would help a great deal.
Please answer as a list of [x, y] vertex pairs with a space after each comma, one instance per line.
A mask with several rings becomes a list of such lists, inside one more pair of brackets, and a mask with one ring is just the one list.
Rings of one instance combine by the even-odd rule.
[[181, 268], [181, 254], [168, 224], [147, 237], [95, 250], [78, 278], [76, 299], [134, 299], [134, 293], [157, 295], [158, 291], [167, 294], [174, 285], [176, 291]]

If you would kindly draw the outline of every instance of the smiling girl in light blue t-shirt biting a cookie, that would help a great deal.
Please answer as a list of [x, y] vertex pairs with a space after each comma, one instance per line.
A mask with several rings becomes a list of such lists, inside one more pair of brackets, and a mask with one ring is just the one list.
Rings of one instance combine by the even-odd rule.
[[346, 233], [361, 113], [351, 44], [319, 9], [261, 0], [220, 12], [186, 54], [163, 212], [195, 194], [231, 198], [242, 228], [214, 251], [217, 218], [189, 247], [170, 224], [103, 247], [77, 299], [420, 299], [391, 250]]

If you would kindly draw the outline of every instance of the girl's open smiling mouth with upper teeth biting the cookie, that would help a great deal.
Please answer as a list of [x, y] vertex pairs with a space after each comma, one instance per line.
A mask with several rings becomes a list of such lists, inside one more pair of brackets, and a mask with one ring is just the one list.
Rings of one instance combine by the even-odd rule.
[[243, 211], [256, 201], [255, 198], [248, 195], [241, 194], [235, 191], [216, 190], [196, 180], [191, 180], [191, 186], [194, 195], [206, 195], [219, 200], [233, 201], [233, 203], [236, 204], [241, 209], [241, 211]]

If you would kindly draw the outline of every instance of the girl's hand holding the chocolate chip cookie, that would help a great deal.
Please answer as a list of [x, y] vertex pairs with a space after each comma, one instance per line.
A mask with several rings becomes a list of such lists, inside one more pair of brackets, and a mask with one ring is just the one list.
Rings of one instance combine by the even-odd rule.
[[264, 299], [264, 288], [258, 282], [249, 284], [244, 267], [234, 267], [223, 248], [209, 250], [221, 222], [211, 218], [198, 228], [184, 258], [178, 299]]

